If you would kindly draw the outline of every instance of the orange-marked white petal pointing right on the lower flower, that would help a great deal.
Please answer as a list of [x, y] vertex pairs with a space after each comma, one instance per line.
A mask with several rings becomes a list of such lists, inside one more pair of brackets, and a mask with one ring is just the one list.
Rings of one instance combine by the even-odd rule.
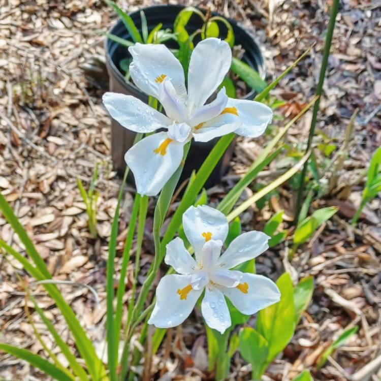
[[238, 286], [238, 288], [221, 287], [220, 289], [233, 305], [245, 315], [256, 313], [280, 300], [277, 285], [265, 276], [242, 273], [240, 284], [242, 286]]

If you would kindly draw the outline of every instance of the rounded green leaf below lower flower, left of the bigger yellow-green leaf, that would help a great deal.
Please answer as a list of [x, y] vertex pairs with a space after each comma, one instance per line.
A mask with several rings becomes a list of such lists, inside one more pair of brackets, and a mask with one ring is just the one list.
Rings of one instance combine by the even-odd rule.
[[239, 332], [239, 352], [252, 366], [252, 379], [260, 379], [269, 355], [267, 340], [255, 329], [243, 328]]

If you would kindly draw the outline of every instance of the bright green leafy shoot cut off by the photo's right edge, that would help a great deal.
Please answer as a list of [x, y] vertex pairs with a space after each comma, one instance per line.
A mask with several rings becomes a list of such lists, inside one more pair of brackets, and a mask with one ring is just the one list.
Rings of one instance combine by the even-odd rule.
[[370, 160], [361, 204], [352, 219], [352, 225], [356, 225], [364, 206], [373, 200], [379, 192], [381, 192], [381, 147], [376, 149]]

